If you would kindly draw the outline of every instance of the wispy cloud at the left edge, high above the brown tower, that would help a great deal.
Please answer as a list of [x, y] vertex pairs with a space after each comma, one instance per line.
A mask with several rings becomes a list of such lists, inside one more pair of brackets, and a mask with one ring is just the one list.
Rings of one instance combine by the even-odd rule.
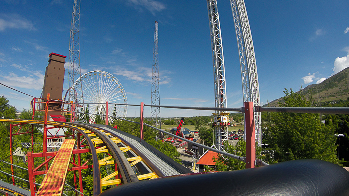
[[0, 31], [6, 29], [26, 29], [29, 31], [36, 30], [34, 24], [18, 14], [1, 14]]

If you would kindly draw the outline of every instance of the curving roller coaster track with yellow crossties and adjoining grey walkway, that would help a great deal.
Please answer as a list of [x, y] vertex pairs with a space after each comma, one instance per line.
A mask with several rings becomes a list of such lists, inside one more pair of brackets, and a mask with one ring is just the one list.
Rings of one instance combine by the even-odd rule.
[[[44, 121], [41, 120], [0, 119], [0, 122], [44, 125]], [[103, 186], [127, 184], [191, 172], [143, 140], [109, 126], [54, 121], [48, 121], [47, 125], [74, 130], [77, 132], [76, 136], [79, 134], [84, 138], [80, 142], [82, 149], [75, 149], [73, 153], [79, 150], [81, 153], [81, 150], [84, 149], [84, 152], [91, 153], [92, 165], [87, 165], [89, 162], [87, 161], [82, 166], [93, 168], [94, 196], [102, 192]], [[105, 158], [101, 159], [102, 156], [98, 156], [100, 153], [104, 153]], [[114, 165], [115, 171], [107, 176], [101, 176], [100, 167], [107, 165]], [[81, 167], [76, 164], [75, 166]], [[74, 167], [70, 169], [74, 170]], [[47, 170], [44, 173], [47, 173]], [[8, 183], [0, 183], [0, 187], [6, 190], [14, 188]], [[23, 191], [23, 193], [27, 192], [27, 190]]]

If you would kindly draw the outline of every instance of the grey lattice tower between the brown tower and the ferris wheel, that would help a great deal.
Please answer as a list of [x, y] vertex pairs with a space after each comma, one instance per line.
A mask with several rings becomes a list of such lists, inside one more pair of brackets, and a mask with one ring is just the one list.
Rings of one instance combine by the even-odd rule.
[[[69, 41], [69, 101], [84, 105], [82, 87], [80, 81], [76, 81], [81, 77], [80, 69], [80, 0], [74, 0], [73, 14], [70, 28]], [[80, 87], [80, 88], [78, 88]], [[77, 94], [76, 91], [81, 91]], [[77, 95], [81, 95], [78, 97]], [[84, 107], [83, 107], [84, 109]]]

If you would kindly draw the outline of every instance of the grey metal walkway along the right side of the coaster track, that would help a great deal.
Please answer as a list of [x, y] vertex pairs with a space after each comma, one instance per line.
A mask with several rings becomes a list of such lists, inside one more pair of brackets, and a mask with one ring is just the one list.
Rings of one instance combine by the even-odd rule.
[[[147, 160], [147, 163], [154, 165], [164, 176], [172, 176], [178, 174], [192, 173], [191, 170], [185, 168], [179, 163], [175, 162], [171, 158], [161, 153], [158, 149], [149, 145], [138, 137], [122, 132], [118, 129], [110, 126], [105, 127], [103, 125], [94, 125], [100, 129], [103, 129], [111, 134], [115, 134], [116, 137], [126, 142], [132, 149], [139, 153], [143, 159]], [[154, 168], [153, 168], [154, 169]]]

